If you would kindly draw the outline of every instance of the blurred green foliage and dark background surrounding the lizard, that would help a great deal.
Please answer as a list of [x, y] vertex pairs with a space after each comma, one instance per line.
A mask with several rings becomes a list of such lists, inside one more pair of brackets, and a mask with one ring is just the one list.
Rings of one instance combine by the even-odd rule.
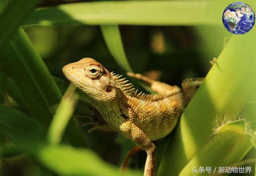
[[[250, 159], [244, 166], [253, 170], [247, 175], [254, 175], [250, 139], [255, 138], [248, 136], [243, 120], [212, 135], [216, 115], [222, 121], [227, 112], [244, 113], [251, 123], [247, 128], [256, 127], [256, 29], [241, 36], [226, 31], [221, 16], [231, 0], [48, 0], [33, 11], [40, 2], [0, 1], [0, 175], [122, 174], [118, 167], [134, 146], [130, 141], [110, 132], [86, 134], [89, 127], [77, 127], [83, 120], [71, 117], [58, 144], [66, 123], [62, 115], [51, 123], [68, 87], [62, 67], [84, 57], [119, 74], [133, 70], [172, 85], [207, 75], [178, 127], [156, 141], [158, 175], [193, 175], [193, 166], [239, 165], [243, 158]], [[256, 2], [246, 3], [256, 9]], [[225, 36], [230, 40], [223, 48]], [[213, 57], [218, 60], [211, 68]], [[144, 90], [140, 82], [131, 82]], [[92, 111], [78, 94], [74, 113]], [[145, 158], [144, 152], [134, 155], [129, 166], [140, 171], [126, 174], [142, 175]]]

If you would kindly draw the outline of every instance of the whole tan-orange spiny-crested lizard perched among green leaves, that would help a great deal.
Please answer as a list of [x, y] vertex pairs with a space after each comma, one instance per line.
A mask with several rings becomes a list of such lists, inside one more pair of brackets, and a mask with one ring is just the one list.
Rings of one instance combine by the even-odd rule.
[[103, 119], [93, 119], [89, 131], [100, 129], [117, 131], [146, 151], [144, 176], [156, 172], [156, 146], [152, 141], [168, 135], [200, 86], [204, 78], [187, 78], [182, 88], [170, 86], [128, 72], [128, 76], [142, 80], [156, 94], [145, 94], [132, 88], [122, 75], [109, 72], [92, 58], [84, 58], [62, 68], [66, 79], [80, 89]]

